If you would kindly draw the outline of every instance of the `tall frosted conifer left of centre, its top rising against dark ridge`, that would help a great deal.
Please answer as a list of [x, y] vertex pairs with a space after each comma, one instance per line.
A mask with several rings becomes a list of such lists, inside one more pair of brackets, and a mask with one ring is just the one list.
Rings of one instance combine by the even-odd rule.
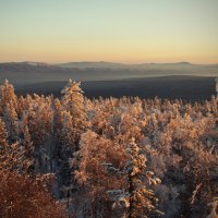
[[72, 159], [73, 154], [78, 150], [81, 134], [86, 129], [85, 99], [80, 85], [81, 83], [69, 80], [68, 85], [62, 90], [64, 95], [61, 101], [61, 135], [63, 137], [61, 147], [61, 168], [63, 169], [61, 172], [61, 180], [66, 186], [73, 183], [72, 181], [74, 181], [73, 178], [75, 175], [75, 169], [72, 169], [69, 165], [70, 159]]

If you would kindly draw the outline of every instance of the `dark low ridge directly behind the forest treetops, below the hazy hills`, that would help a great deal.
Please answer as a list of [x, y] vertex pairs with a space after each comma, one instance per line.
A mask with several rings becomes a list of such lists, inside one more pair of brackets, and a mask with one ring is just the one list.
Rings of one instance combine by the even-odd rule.
[[[199, 76], [161, 76], [144, 78], [125, 78], [117, 81], [86, 81], [82, 83], [85, 95], [93, 97], [122, 97], [138, 96], [141, 98], [182, 98], [186, 100], [205, 100], [215, 95], [215, 77]], [[15, 86], [16, 93], [25, 95], [37, 93], [57, 97], [61, 96], [61, 89], [65, 82], [46, 82]]]

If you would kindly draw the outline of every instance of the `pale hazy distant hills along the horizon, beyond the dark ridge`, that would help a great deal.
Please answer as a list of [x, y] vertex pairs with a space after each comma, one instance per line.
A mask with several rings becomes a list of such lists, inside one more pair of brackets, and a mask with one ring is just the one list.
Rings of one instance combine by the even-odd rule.
[[180, 63], [121, 64], [77, 62], [48, 64], [37, 62], [0, 63], [0, 81], [26, 85], [55, 81], [114, 81], [166, 75], [218, 76], [218, 65]]

